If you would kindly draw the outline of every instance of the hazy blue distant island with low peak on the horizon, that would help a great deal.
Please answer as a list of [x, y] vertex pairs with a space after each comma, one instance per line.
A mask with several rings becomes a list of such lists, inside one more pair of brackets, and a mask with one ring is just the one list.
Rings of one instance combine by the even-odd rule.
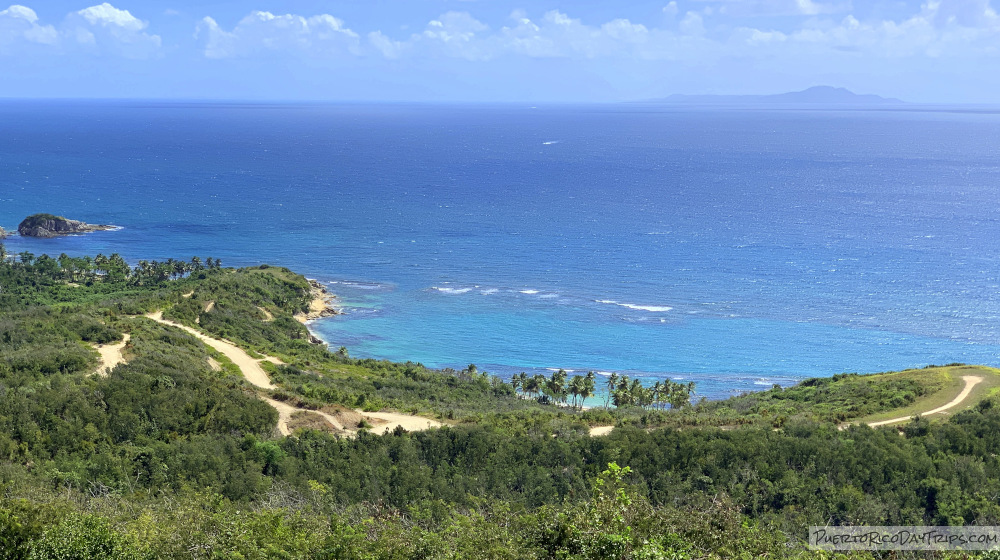
[[802, 91], [774, 95], [682, 95], [675, 94], [646, 103], [681, 105], [899, 105], [903, 101], [873, 94], [858, 94], [846, 88], [815, 86]]

